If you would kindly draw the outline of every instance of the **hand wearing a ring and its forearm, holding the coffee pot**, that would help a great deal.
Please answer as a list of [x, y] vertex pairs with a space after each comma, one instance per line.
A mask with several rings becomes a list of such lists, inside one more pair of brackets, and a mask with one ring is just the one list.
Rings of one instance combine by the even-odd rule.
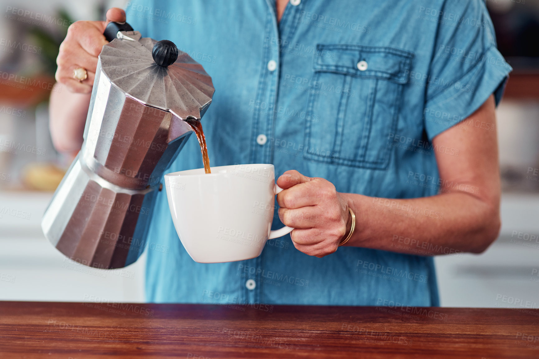
[[[67, 30], [56, 60], [56, 87], [52, 91], [49, 107], [50, 130], [54, 147], [59, 152], [77, 152], [82, 145], [82, 132], [94, 83], [98, 55], [108, 41], [103, 36], [110, 21], [123, 22], [122, 9], [107, 11], [107, 21], [78, 21]], [[83, 67], [88, 78], [82, 82], [73, 79], [73, 70]]]

